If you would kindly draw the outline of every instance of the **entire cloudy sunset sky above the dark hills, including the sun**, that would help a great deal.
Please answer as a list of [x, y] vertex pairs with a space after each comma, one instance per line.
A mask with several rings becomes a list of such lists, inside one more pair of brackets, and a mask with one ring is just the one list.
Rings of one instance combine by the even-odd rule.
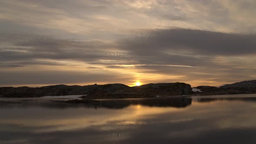
[[0, 0], [0, 86], [256, 79], [255, 0]]

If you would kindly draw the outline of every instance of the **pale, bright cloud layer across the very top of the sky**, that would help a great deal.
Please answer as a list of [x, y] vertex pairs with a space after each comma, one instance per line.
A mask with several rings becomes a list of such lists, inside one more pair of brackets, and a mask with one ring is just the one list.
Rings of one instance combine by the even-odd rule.
[[[1, 27], [69, 38], [112, 39], [134, 29], [181, 27], [255, 31], [255, 1], [234, 0], [1, 0]], [[246, 8], [245, 8], [246, 7]], [[19, 27], [19, 29], [17, 29]], [[14, 28], [14, 30], [12, 30]], [[9, 31], [9, 32], [10, 32]]]

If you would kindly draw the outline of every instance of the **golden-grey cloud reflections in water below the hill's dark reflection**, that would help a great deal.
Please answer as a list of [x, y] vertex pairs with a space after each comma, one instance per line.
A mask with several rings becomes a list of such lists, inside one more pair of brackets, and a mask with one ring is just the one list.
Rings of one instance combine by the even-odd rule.
[[[0, 134], [3, 131], [34, 135], [28, 138], [46, 138], [77, 142], [106, 143], [120, 142], [149, 144], [159, 141], [196, 140], [217, 135], [222, 137], [230, 132], [254, 131], [256, 128], [256, 105], [253, 101], [192, 101], [185, 108], [147, 107], [131, 105], [123, 109], [105, 108], [66, 108], [62, 110], [47, 108], [0, 109]], [[217, 132], [212, 133], [212, 132]], [[219, 134], [219, 135], [218, 135]], [[241, 135], [243, 137], [243, 133]], [[62, 139], [62, 140], [59, 140]], [[25, 143], [25, 142], [24, 142]], [[37, 144], [37, 142], [35, 143]], [[69, 142], [68, 142], [69, 144]]]

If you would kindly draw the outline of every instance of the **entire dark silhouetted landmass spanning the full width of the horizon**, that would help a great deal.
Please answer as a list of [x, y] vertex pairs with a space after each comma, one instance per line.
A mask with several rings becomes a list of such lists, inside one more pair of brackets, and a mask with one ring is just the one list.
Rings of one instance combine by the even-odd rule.
[[236, 82], [234, 84], [213, 86], [197, 86], [201, 92], [191, 91], [186, 83], [157, 83], [130, 87], [123, 84], [107, 85], [49, 85], [39, 88], [2, 87], [0, 97], [42, 97], [60, 95], [86, 95], [84, 98], [153, 98], [156, 96], [174, 95], [230, 95], [256, 93], [256, 80]]

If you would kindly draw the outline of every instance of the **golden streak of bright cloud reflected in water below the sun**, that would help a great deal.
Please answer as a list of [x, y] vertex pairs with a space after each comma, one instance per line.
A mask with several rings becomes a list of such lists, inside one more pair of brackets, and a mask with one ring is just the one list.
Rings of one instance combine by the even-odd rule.
[[[99, 126], [108, 124], [111, 121], [119, 121], [115, 124], [143, 124], [143, 121], [137, 121], [136, 119], [140, 119], [143, 117], [147, 117], [147, 115], [157, 115], [164, 112], [170, 111], [178, 111], [177, 108], [149, 108], [138, 105], [132, 105], [128, 108], [123, 109], [122, 111], [111, 111], [108, 109], [99, 108], [94, 114], [94, 109], [88, 109], [89, 115], [83, 114], [84, 108], [78, 108], [75, 111], [78, 112], [75, 115], [73, 111], [67, 110], [66, 113], [58, 114], [59, 110], [51, 109], [51, 115], [53, 118], [37, 118], [37, 115], [30, 118], [30, 116], [23, 116], [18, 120], [15, 118], [2, 118], [0, 120], [1, 124], [16, 124], [16, 125], [23, 125], [26, 127], [39, 127], [36, 132], [54, 132], [54, 131], [72, 131], [78, 130], [83, 128], [88, 128], [90, 126]], [[19, 112], [24, 113], [27, 111], [26, 109], [19, 110]], [[43, 113], [47, 113], [48, 109], [37, 109], [38, 111], [42, 111]], [[36, 112], [36, 111], [32, 111]], [[55, 114], [56, 113], [56, 114]], [[81, 115], [80, 115], [81, 114]], [[68, 118], [65, 115], [72, 115]], [[44, 127], [51, 126], [50, 128], [45, 129]]]

